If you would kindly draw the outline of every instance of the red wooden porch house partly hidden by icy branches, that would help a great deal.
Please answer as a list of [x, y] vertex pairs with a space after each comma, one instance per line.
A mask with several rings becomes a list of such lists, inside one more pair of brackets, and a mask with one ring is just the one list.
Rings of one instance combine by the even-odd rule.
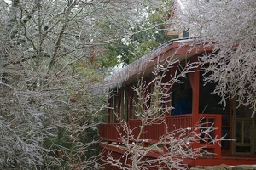
[[[134, 115], [133, 102], [134, 86], [140, 77], [147, 77], [148, 81], [154, 71], [156, 64], [161, 63], [170, 57], [179, 59], [181, 65], [188, 61], [194, 62], [204, 53], [211, 52], [212, 48], [204, 48], [201, 44], [197, 44], [196, 48], [190, 47], [190, 39], [180, 39], [167, 42], [160, 48], [138, 59], [133, 64], [126, 66], [123, 70], [106, 79], [111, 83], [113, 94], [109, 98], [109, 106], [113, 107], [113, 111], [117, 113], [131, 127], [139, 126], [136, 116]], [[191, 127], [200, 119], [206, 122], [214, 122], [214, 136], [236, 139], [236, 141], [224, 140], [219, 144], [207, 144], [206, 149], [212, 150], [214, 155], [202, 156], [196, 159], [183, 160], [183, 163], [191, 167], [195, 165], [212, 166], [219, 164], [241, 165], [256, 164], [255, 156], [255, 119], [251, 118], [252, 111], [245, 107], [236, 108], [234, 100], [227, 102], [225, 108], [218, 105], [220, 101], [217, 94], [212, 94], [214, 84], [204, 84], [201, 68], [195, 67], [186, 78], [183, 77], [182, 83], [176, 82], [170, 90], [169, 105], [177, 105], [177, 100], [181, 96], [189, 100], [192, 104], [191, 113], [174, 115], [174, 111], [168, 111], [163, 116], [167, 122], [167, 126], [173, 125], [180, 127]], [[176, 71], [176, 67], [170, 69], [165, 74], [171, 75]], [[168, 76], [166, 76], [166, 79]], [[147, 82], [147, 81], [146, 81]], [[112, 151], [117, 159], [125, 152], [124, 148], [117, 147], [119, 144], [119, 133], [116, 127], [120, 122], [114, 115], [112, 110], [108, 111], [108, 123], [100, 125], [100, 148], [105, 151]], [[148, 139], [157, 140], [160, 138], [160, 128], [151, 127], [145, 133]], [[135, 134], [136, 135], [136, 134]], [[198, 144], [200, 147], [200, 144]], [[163, 150], [162, 150], [163, 151]], [[106, 153], [106, 152], [105, 152]], [[148, 157], [157, 157], [158, 154], [150, 154]], [[107, 168], [108, 169], [108, 168]]]

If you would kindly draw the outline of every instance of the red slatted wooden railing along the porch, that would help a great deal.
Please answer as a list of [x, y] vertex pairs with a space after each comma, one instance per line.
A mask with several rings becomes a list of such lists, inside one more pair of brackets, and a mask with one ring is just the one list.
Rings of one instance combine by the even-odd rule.
[[[200, 123], [202, 128], [207, 127], [216, 127], [214, 131], [212, 131], [211, 136], [221, 138], [221, 115], [218, 114], [201, 114]], [[152, 121], [152, 120], [148, 120]], [[165, 122], [165, 123], [163, 123]], [[105, 140], [107, 144], [120, 144], [122, 141], [120, 140], [120, 135], [125, 135], [125, 133], [121, 130], [121, 123], [106, 123], [101, 124], [99, 127], [100, 139]], [[140, 133], [140, 127], [142, 122], [137, 119], [131, 119], [128, 122], [128, 126], [131, 129], [131, 134], [133, 138], [132, 140], [139, 139], [143, 141], [143, 145], [145, 143], [157, 143], [160, 141], [160, 138], [167, 131], [172, 132], [179, 128], [193, 127], [195, 126], [192, 122], [192, 114], [186, 115], [178, 115], [178, 116], [164, 116], [161, 119], [154, 120], [150, 125], [146, 125], [143, 128], [143, 131]], [[119, 129], [119, 130], [118, 130]], [[211, 139], [206, 138], [196, 145], [197, 147], [204, 147], [207, 150], [213, 150], [214, 156], [221, 156], [221, 146], [220, 144], [213, 144]]]

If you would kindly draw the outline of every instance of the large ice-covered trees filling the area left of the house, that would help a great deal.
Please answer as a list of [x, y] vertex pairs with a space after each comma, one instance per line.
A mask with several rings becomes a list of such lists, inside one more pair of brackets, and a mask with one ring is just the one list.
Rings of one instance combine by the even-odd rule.
[[[143, 0], [0, 2], [0, 168], [95, 168], [102, 45], [129, 37]], [[134, 32], [133, 32], [134, 33]]]

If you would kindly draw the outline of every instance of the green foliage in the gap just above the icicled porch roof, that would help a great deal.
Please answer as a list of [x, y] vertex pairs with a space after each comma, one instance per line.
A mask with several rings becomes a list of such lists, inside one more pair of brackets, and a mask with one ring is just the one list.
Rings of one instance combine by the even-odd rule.
[[[163, 1], [171, 7], [172, 1]], [[169, 10], [145, 8], [143, 18], [136, 26], [131, 26], [131, 37], [109, 44], [108, 53], [97, 59], [102, 67], [125, 66], [131, 64], [154, 48], [173, 39], [166, 36], [166, 16]], [[146, 13], [146, 14], [145, 14]]]

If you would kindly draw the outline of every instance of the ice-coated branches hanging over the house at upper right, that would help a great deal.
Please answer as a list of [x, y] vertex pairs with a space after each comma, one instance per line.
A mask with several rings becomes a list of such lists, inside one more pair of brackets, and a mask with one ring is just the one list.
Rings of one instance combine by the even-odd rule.
[[[217, 82], [214, 93], [236, 98], [256, 112], [256, 2], [255, 0], [182, 0], [177, 1], [179, 25], [191, 37], [203, 37], [213, 46], [212, 54], [201, 57], [207, 65], [206, 81]], [[209, 65], [209, 66], [208, 66]]]

